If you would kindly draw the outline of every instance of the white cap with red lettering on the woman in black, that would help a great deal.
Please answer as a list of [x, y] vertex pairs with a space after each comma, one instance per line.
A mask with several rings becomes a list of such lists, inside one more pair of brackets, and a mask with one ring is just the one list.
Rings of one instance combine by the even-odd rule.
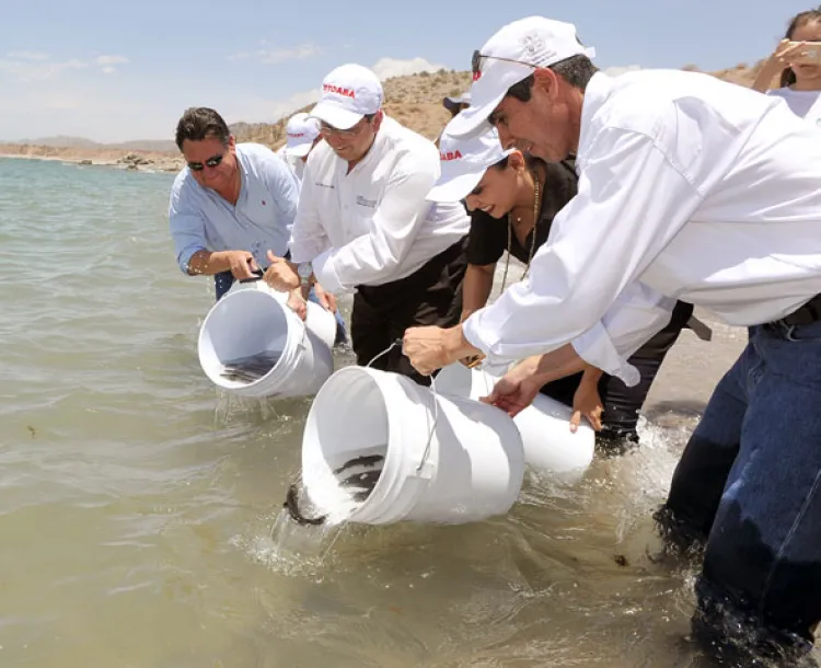
[[[451, 120], [452, 123], [452, 120]], [[500, 162], [513, 149], [504, 150], [496, 128], [467, 138], [453, 137], [450, 124], [439, 138], [439, 160], [442, 173], [428, 192], [430, 201], [460, 201], [471, 194], [485, 175], [487, 168]]]

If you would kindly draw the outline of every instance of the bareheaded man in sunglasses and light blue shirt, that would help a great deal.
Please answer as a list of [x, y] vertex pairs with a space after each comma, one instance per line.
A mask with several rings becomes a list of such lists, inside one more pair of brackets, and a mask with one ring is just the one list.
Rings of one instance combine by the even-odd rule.
[[234, 279], [254, 278], [267, 252], [288, 252], [299, 182], [258, 143], [236, 143], [208, 107], [187, 110], [176, 128], [186, 166], [171, 192], [169, 221], [180, 268], [213, 276], [217, 299]]

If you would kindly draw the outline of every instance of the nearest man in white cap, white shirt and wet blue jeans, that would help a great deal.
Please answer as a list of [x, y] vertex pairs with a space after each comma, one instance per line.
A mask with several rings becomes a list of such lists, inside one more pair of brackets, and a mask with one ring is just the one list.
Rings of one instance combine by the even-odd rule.
[[573, 25], [539, 16], [501, 28], [474, 66], [472, 106], [448, 131], [489, 122], [505, 146], [575, 151], [578, 195], [528, 283], [463, 327], [409, 330], [406, 353], [423, 372], [477, 352], [528, 358], [488, 398], [516, 413], [582, 357], [634, 384], [626, 359], [675, 299], [749, 327], [656, 517], [706, 543], [705, 647], [797, 665], [821, 621], [821, 135], [706, 74], [610, 78]]

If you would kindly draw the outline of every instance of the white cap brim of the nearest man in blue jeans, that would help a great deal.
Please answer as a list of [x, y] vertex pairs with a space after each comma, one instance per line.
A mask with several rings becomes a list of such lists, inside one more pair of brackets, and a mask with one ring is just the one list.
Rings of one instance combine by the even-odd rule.
[[448, 133], [458, 139], [466, 139], [488, 131], [492, 127], [488, 117], [505, 99], [508, 89], [533, 71], [528, 65], [495, 61], [471, 87], [471, 106], [451, 119]]

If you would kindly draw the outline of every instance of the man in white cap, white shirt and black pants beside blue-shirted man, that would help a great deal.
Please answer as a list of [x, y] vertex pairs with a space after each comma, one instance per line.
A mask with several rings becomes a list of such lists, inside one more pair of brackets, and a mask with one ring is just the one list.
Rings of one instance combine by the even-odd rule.
[[375, 368], [427, 384], [391, 346], [412, 324], [459, 322], [470, 219], [459, 203], [426, 200], [439, 177], [439, 152], [385, 115], [371, 70], [342, 66], [322, 89], [310, 115], [324, 141], [305, 166], [293, 263], [278, 260], [266, 280], [280, 290], [307, 290], [314, 280], [331, 292], [356, 290], [357, 362], [374, 360]]

